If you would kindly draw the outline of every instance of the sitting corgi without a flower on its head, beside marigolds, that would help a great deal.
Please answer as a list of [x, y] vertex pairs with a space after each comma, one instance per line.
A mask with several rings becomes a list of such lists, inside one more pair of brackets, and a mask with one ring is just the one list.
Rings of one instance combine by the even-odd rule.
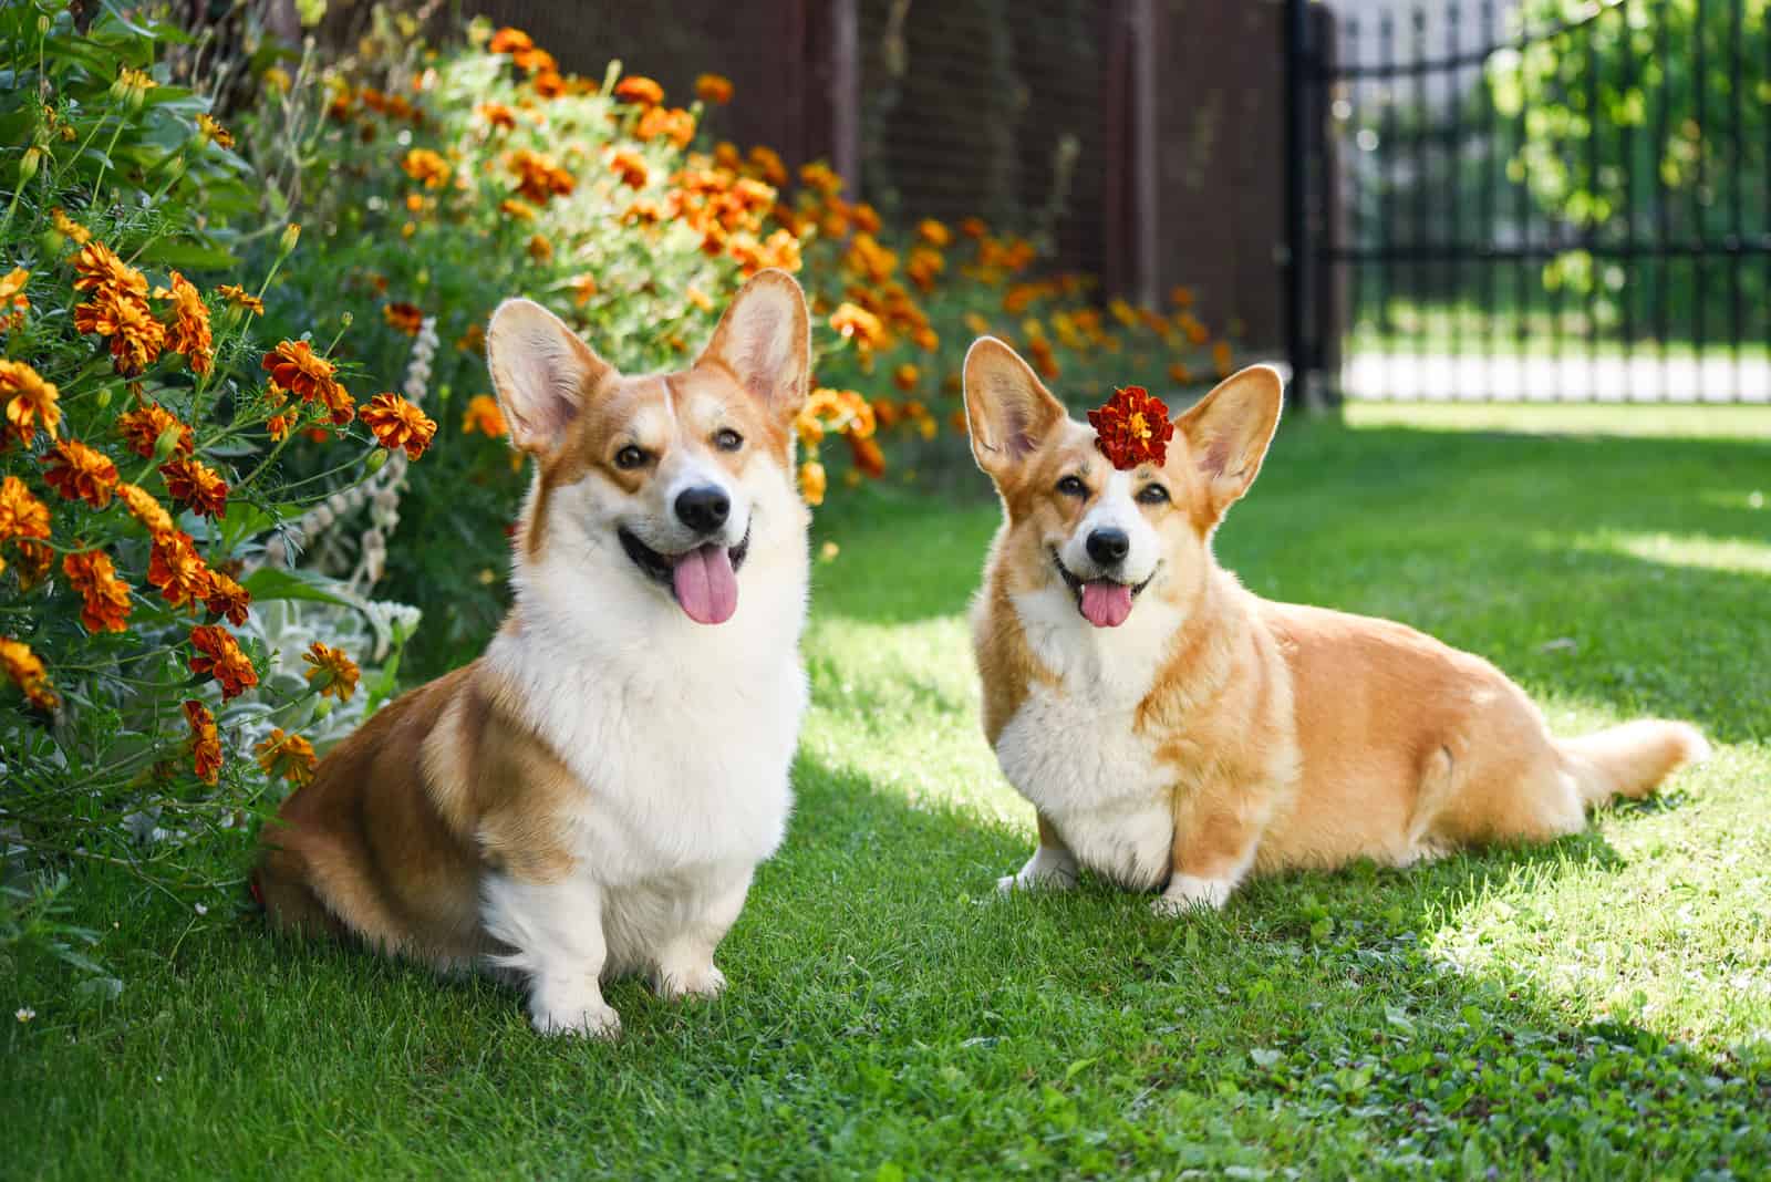
[[714, 948], [781, 844], [806, 676], [799, 285], [762, 271], [687, 370], [623, 377], [540, 304], [487, 329], [537, 460], [483, 656], [379, 711], [266, 828], [271, 920], [528, 986], [615, 1035], [600, 980], [724, 987]]

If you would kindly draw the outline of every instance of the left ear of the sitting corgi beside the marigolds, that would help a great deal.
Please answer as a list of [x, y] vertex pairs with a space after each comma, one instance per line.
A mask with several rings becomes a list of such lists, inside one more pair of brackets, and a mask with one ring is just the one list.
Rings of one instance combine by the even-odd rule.
[[485, 363], [510, 442], [547, 455], [615, 366], [533, 299], [507, 299], [485, 329]]

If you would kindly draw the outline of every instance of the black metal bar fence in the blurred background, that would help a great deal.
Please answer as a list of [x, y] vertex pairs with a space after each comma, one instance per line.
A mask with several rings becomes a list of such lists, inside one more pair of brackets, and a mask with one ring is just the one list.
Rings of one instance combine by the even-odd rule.
[[1771, 5], [1289, 2], [1305, 389], [1771, 402]]

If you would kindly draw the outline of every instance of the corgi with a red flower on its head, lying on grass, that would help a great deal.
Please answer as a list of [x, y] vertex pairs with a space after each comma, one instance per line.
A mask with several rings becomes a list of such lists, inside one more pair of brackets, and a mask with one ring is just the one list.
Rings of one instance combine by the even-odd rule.
[[1040, 814], [1002, 890], [1082, 865], [1165, 886], [1158, 911], [1218, 908], [1250, 872], [1574, 833], [1705, 754], [1682, 722], [1555, 740], [1479, 656], [1245, 591], [1211, 533], [1279, 407], [1279, 375], [1243, 370], [1172, 425], [1139, 419], [1172, 442], [1121, 469], [1008, 345], [972, 345], [972, 455], [1004, 508], [972, 610], [985, 734]]

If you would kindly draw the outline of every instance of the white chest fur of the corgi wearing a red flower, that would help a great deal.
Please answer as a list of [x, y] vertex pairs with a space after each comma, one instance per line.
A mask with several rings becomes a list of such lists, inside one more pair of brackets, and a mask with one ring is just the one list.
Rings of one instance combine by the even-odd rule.
[[1015, 607], [1059, 681], [1029, 685], [1002, 727], [1002, 775], [1082, 865], [1135, 890], [1160, 886], [1174, 839], [1174, 771], [1133, 722], [1172, 619], [1141, 603], [1121, 628], [1089, 628], [1068, 598], [1050, 593], [1017, 596]]

